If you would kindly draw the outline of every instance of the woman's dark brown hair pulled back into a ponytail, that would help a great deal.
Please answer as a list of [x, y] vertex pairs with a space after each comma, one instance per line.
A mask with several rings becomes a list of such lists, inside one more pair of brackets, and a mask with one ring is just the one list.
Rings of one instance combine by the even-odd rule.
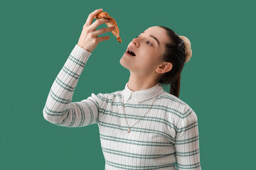
[[178, 97], [181, 85], [181, 71], [185, 64], [186, 53], [185, 45], [181, 38], [171, 30], [164, 26], [159, 26], [166, 30], [166, 34], [169, 37], [169, 42], [165, 44], [165, 52], [163, 55], [164, 62], [171, 62], [173, 67], [169, 72], [164, 73], [159, 78], [159, 83], [161, 84], [171, 84], [170, 94]]

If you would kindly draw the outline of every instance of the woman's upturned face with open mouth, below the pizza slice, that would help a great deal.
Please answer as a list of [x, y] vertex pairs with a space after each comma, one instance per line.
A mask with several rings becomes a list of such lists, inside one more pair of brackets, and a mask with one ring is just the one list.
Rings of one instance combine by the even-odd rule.
[[150, 27], [134, 38], [129, 43], [130, 48], [136, 56], [128, 55], [127, 51], [120, 59], [120, 64], [139, 76], [156, 73], [159, 64], [163, 63], [164, 45], [169, 42], [164, 28], [158, 26]]

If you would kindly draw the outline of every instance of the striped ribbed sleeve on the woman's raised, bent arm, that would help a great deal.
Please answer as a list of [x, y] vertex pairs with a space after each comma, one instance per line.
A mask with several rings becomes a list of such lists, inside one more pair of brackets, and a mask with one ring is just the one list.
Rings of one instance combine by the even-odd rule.
[[82, 127], [97, 123], [99, 103], [95, 94], [80, 102], [71, 102], [75, 86], [92, 53], [75, 45], [68, 60], [50, 88], [43, 117], [65, 127]]

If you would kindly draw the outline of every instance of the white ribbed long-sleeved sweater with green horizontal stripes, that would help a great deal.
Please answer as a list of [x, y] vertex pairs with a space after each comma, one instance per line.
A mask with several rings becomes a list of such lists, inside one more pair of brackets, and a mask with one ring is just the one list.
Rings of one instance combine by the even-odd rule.
[[[127, 83], [122, 91], [92, 93], [82, 101], [71, 102], [90, 55], [75, 45], [50, 88], [43, 117], [72, 128], [97, 123], [107, 170], [201, 169], [197, 115], [161, 84], [132, 91]], [[130, 133], [127, 123], [137, 123]]]

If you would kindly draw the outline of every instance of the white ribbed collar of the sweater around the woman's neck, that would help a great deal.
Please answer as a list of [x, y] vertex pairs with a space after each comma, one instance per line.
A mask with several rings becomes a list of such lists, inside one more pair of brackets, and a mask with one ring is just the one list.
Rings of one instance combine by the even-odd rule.
[[157, 95], [161, 94], [164, 89], [161, 87], [160, 83], [155, 84], [149, 89], [139, 90], [139, 91], [132, 91], [128, 87], [128, 82], [125, 84], [123, 95], [124, 101], [136, 101], [141, 103], [142, 101], [146, 101], [148, 99], [154, 98]]

